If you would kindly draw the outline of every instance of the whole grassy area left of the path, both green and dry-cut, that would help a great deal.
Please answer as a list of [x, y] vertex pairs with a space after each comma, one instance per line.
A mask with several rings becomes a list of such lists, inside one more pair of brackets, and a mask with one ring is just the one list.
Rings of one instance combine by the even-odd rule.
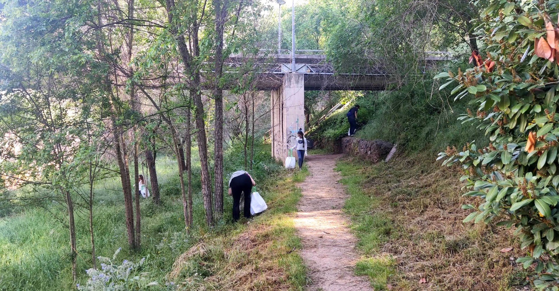
[[[225, 163], [229, 168], [239, 165], [238, 161], [243, 160], [239, 158], [239, 152], [242, 151], [230, 149], [226, 153]], [[250, 221], [231, 223], [232, 199], [225, 195], [224, 217], [212, 228], [207, 228], [203, 225], [204, 213], [197, 176], [200, 171], [194, 166], [195, 225], [187, 235], [184, 232], [181, 193], [174, 170], [176, 161], [159, 158], [157, 169], [163, 204], [156, 206], [151, 199], [140, 202], [142, 246], [139, 251], [127, 248], [119, 180], [105, 180], [96, 185], [96, 255], [111, 257], [116, 249], [122, 247], [117, 261], [140, 261], [145, 258], [138, 275], [146, 282], [159, 282], [149, 290], [168, 290], [165, 283], [169, 282], [187, 289], [191, 285], [212, 289], [239, 283], [239, 278], [243, 278], [243, 286], [247, 289], [300, 290], [306, 282], [306, 270], [301, 257], [292, 251], [300, 248], [300, 241], [290, 217], [296, 211], [296, 203], [301, 195], [295, 182], [304, 179], [305, 172], [297, 171], [288, 175], [282, 168], [269, 156], [269, 146], [258, 145], [251, 174], [259, 184], [260, 194], [268, 203], [268, 211]], [[230, 171], [226, 169], [225, 173]], [[85, 270], [92, 265], [87, 213], [77, 208], [78, 282], [73, 282], [70, 272], [67, 228], [57, 222], [55, 217], [64, 220], [64, 208], [54, 205], [48, 209], [29, 208], [0, 218], [0, 290], [72, 290], [75, 283], [86, 282], [88, 276]], [[250, 248], [246, 244], [239, 244], [243, 237], [253, 242]], [[172, 278], [170, 274], [175, 269], [173, 266], [179, 264], [177, 258], [198, 245], [211, 247], [207, 248], [205, 254], [199, 253], [184, 260], [187, 269], [181, 269], [177, 277]]]

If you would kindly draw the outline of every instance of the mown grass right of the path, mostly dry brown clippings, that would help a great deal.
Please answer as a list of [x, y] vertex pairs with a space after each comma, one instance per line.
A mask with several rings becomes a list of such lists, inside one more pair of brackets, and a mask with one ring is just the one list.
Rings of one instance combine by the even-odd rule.
[[[461, 205], [470, 198], [461, 195], [457, 169], [434, 160], [400, 154], [390, 163], [337, 163], [350, 195], [344, 211], [362, 252], [356, 274], [368, 275], [376, 290], [522, 287], [527, 273], [514, 259], [524, 254], [511, 231], [462, 223], [469, 212]], [[510, 246], [513, 251], [500, 252]]]

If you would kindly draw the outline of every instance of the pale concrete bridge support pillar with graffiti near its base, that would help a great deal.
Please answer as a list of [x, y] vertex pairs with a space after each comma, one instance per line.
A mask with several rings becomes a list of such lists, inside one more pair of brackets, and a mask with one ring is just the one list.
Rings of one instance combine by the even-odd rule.
[[271, 103], [272, 156], [285, 160], [299, 128], [305, 132], [305, 74], [284, 74], [281, 87], [272, 91]]

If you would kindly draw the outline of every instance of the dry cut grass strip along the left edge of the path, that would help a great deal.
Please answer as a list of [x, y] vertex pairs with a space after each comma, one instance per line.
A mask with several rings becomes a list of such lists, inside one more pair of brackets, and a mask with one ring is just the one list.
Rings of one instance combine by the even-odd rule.
[[186, 290], [302, 290], [306, 269], [292, 215], [301, 193], [293, 180], [266, 190], [269, 209], [238, 228], [207, 237], [177, 257], [168, 277]]

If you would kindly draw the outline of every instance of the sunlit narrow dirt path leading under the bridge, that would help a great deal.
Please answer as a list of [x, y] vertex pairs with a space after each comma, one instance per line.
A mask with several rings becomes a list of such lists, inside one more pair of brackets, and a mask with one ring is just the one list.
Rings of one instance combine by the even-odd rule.
[[303, 197], [295, 227], [302, 237], [301, 256], [309, 268], [307, 290], [373, 290], [366, 277], [356, 276], [356, 238], [349, 232], [342, 207], [347, 194], [334, 171], [340, 155], [312, 155], [307, 165], [311, 176], [299, 184]]

